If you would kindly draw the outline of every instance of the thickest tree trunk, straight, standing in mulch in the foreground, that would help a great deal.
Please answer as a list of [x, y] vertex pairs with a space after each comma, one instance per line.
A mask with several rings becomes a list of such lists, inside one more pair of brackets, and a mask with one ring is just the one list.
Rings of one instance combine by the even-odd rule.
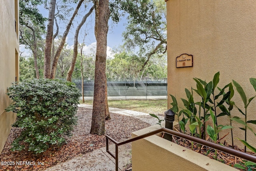
[[90, 134], [105, 134], [105, 98], [106, 98], [106, 57], [107, 33], [110, 10], [108, 0], [99, 1], [97, 29], [97, 49], [95, 61], [94, 100], [92, 109], [92, 126]]

